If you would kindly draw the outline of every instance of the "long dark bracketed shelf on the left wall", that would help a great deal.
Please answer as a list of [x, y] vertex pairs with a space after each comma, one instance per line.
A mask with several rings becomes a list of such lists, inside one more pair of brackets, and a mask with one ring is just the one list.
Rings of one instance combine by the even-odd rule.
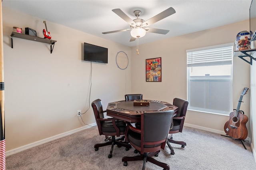
[[[57, 42], [55, 40], [50, 40], [50, 39], [47, 39], [47, 38], [39, 38], [39, 37], [35, 37], [35, 36], [30, 36], [30, 35], [27, 35], [27, 34], [20, 34], [18, 32], [12, 32], [11, 41], [12, 41], [13, 37], [22, 38], [22, 39], [25, 39], [25, 40], [31, 40], [31, 41], [35, 41], [35, 42], [42, 42], [42, 43], [51, 44], [51, 53], [52, 53], [52, 50], [54, 48], [54, 43]], [[13, 48], [13, 42], [12, 42], [12, 48]]]

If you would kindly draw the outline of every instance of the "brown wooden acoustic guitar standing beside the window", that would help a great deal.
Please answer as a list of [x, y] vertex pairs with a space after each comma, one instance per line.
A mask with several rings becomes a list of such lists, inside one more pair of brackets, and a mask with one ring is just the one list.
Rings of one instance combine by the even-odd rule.
[[238, 105], [236, 112], [231, 112], [229, 115], [229, 120], [225, 123], [224, 125], [224, 131], [226, 132], [227, 135], [231, 136], [232, 138], [236, 138], [239, 140], [244, 140], [247, 137], [247, 128], [246, 128], [246, 123], [248, 121], [248, 117], [244, 114], [242, 114], [240, 111], [240, 105], [242, 103], [242, 98], [248, 91], [248, 88], [244, 88], [240, 95], [240, 99], [238, 101]]

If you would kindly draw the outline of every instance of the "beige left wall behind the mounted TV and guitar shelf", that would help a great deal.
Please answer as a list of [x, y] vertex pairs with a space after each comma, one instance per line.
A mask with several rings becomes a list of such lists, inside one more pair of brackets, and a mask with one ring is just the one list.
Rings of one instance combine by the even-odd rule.
[[[95, 123], [90, 103], [102, 99], [103, 107], [124, 99], [130, 92], [130, 65], [121, 70], [116, 54], [130, 47], [47, 22], [50, 45], [13, 38], [12, 27], [25, 27], [43, 37], [43, 19], [3, 8], [6, 150], [49, 138], [84, 125], [76, 116], [85, 112], [86, 124]], [[89, 99], [90, 63], [82, 61], [83, 43], [108, 48], [108, 64], [92, 63], [92, 89]]]

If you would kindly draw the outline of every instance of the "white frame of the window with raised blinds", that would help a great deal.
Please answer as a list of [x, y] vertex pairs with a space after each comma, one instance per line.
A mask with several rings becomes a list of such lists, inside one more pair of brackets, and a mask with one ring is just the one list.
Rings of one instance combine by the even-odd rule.
[[[216, 57], [216, 60], [214, 59], [215, 57], [211, 56], [211, 57], [208, 57], [210, 58], [210, 62], [206, 60], [200, 60], [200, 57], [199, 57], [199, 62], [196, 62], [196, 58], [194, 58], [194, 62], [193, 62], [193, 57], [190, 57], [188, 55], [188, 53], [191, 54], [191, 52], [196, 52], [196, 51], [202, 51], [202, 50], [210, 50], [210, 49], [217, 49], [217, 48], [225, 48], [225, 47], [232, 47], [232, 54], [231, 54], [231, 57], [222, 57], [222, 60], [219, 60], [218, 57]], [[229, 81], [230, 82], [230, 97], [229, 97], [229, 102], [230, 102], [230, 108], [229, 110], [232, 111], [232, 108], [233, 108], [233, 102], [232, 102], [232, 84], [233, 84], [233, 49], [234, 49], [234, 43], [226, 43], [226, 44], [222, 44], [222, 45], [214, 45], [214, 46], [209, 46], [209, 47], [202, 47], [202, 48], [196, 48], [196, 49], [189, 49], [189, 50], [186, 50], [187, 52], [187, 99], [188, 101], [190, 100], [190, 89], [189, 89], [189, 81], [192, 80], [192, 81], [214, 81], [214, 80], [217, 80], [217, 81]], [[229, 53], [230, 54], [230, 53]], [[202, 58], [201, 58], [202, 59]], [[214, 62], [211, 62], [211, 59], [215, 60]], [[230, 59], [231, 59], [231, 62], [230, 62]], [[190, 67], [197, 67], [197, 66], [208, 66], [208, 65], [231, 65], [231, 76], [230, 78], [219, 78], [218, 76], [217, 77], [214, 77], [213, 79], [190, 79], [190, 75], [189, 75], [189, 68]], [[211, 109], [205, 109], [205, 108], [194, 108], [194, 107], [191, 107], [190, 106], [190, 103], [188, 105], [188, 110], [190, 111], [197, 111], [197, 112], [203, 112], [203, 113], [211, 113], [211, 114], [216, 114], [216, 115], [225, 115], [225, 116], [228, 116], [230, 111], [216, 111], [216, 110], [211, 110]]]

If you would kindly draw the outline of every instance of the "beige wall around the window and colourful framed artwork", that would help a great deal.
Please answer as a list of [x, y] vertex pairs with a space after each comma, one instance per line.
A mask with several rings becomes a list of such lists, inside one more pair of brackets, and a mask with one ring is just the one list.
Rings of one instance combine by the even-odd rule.
[[[145, 99], [168, 102], [172, 102], [174, 97], [186, 99], [186, 50], [234, 43], [242, 30], [249, 30], [249, 20], [140, 45], [140, 55], [136, 54], [136, 47], [132, 47], [132, 92], [142, 93]], [[145, 59], [154, 57], [162, 57], [162, 82], [145, 81]], [[243, 88], [250, 85], [250, 64], [238, 57], [234, 57], [233, 63], [233, 108], [236, 109]], [[243, 97], [244, 103], [240, 107], [247, 116], [250, 114], [249, 97]], [[228, 116], [188, 111], [185, 123], [224, 134], [224, 124], [228, 119]], [[246, 124], [247, 127], [249, 125]]]

